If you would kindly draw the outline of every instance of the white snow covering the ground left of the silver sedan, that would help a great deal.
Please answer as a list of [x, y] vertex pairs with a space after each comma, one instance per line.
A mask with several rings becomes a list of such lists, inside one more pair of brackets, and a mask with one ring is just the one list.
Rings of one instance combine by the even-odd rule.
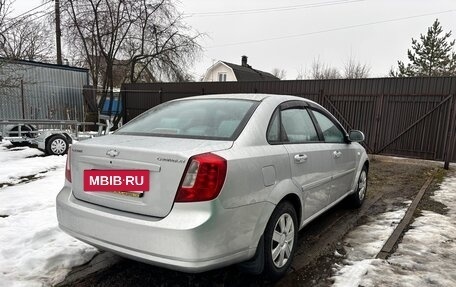
[[[10, 166], [17, 159], [11, 153], [18, 151], [4, 146], [0, 146], [0, 159], [2, 165]], [[30, 148], [20, 151], [34, 153]], [[55, 197], [63, 186], [65, 158], [22, 158], [24, 170], [31, 171], [34, 159], [45, 161], [53, 170], [42, 169], [49, 171], [34, 181], [0, 188], [0, 286], [54, 285], [71, 267], [89, 261], [97, 252], [58, 228]]]

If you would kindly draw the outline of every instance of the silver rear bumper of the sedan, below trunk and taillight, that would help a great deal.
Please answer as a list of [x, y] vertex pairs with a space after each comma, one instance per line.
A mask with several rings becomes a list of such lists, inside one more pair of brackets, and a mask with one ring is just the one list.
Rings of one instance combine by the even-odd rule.
[[184, 272], [251, 258], [264, 230], [259, 226], [262, 216], [273, 209], [266, 202], [224, 209], [216, 199], [175, 203], [160, 219], [80, 201], [69, 187], [57, 196], [59, 225], [68, 234], [100, 249]]

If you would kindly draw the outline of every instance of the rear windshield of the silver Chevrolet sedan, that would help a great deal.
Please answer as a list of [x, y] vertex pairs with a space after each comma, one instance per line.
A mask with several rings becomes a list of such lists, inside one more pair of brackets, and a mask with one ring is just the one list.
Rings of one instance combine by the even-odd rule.
[[193, 99], [156, 106], [116, 134], [234, 140], [258, 102], [239, 99]]

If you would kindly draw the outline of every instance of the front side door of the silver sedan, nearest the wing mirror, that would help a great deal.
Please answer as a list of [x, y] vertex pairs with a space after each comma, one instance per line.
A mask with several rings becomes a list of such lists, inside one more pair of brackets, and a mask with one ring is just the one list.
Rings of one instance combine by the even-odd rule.
[[323, 111], [313, 109], [312, 114], [324, 138], [323, 145], [332, 165], [330, 202], [337, 201], [350, 191], [356, 171], [356, 147], [350, 144], [337, 121]]

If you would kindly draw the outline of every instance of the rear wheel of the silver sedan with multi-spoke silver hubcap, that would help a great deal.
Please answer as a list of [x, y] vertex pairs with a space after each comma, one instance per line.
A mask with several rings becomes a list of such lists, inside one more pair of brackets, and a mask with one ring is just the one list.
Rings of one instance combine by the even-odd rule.
[[288, 201], [280, 203], [264, 232], [264, 271], [271, 281], [283, 277], [290, 268], [298, 239], [296, 210]]

